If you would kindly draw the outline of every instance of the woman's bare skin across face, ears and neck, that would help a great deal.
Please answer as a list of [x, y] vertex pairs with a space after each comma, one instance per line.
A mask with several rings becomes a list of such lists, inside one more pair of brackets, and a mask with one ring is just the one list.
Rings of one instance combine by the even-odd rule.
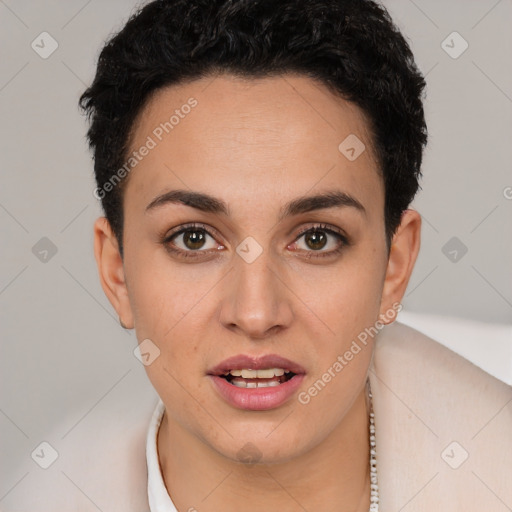
[[[190, 97], [198, 105], [129, 175], [124, 261], [106, 219], [94, 226], [107, 297], [139, 342], [149, 338], [160, 350], [146, 371], [166, 407], [158, 451], [167, 489], [180, 512], [366, 512], [365, 382], [374, 340], [306, 405], [294, 396], [276, 409], [242, 411], [206, 373], [235, 354], [278, 353], [305, 368], [299, 392], [310, 388], [366, 327], [392, 321], [384, 314], [405, 292], [421, 217], [404, 212], [388, 257], [384, 185], [367, 121], [300, 75], [220, 75], [161, 89], [137, 119], [130, 147]], [[338, 150], [349, 134], [366, 146], [354, 161]], [[230, 216], [172, 203], [145, 211], [178, 188], [222, 199]], [[278, 220], [286, 202], [333, 189], [365, 213], [344, 206]], [[197, 259], [179, 258], [162, 242], [190, 222], [212, 235], [195, 249], [203, 251]], [[318, 257], [339, 244], [325, 231], [324, 247], [297, 239], [318, 223], [343, 230], [350, 245]], [[247, 236], [263, 249], [250, 264], [236, 252]], [[183, 235], [174, 244], [194, 251]], [[237, 456], [248, 442], [261, 453], [258, 464]]]

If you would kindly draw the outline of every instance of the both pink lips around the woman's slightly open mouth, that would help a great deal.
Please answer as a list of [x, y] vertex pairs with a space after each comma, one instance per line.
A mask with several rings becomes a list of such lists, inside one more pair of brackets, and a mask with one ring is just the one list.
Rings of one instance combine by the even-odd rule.
[[[295, 375], [275, 387], [239, 388], [230, 384], [222, 375], [229, 370], [263, 370], [266, 368], [282, 368]], [[219, 363], [208, 372], [208, 377], [215, 390], [231, 406], [250, 411], [275, 409], [286, 403], [301, 385], [305, 370], [299, 364], [277, 354], [249, 356], [240, 354]]]

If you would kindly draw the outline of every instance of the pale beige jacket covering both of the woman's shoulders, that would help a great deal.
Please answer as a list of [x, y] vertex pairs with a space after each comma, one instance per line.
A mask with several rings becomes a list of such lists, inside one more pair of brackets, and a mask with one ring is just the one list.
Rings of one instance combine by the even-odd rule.
[[[379, 333], [370, 379], [380, 512], [512, 510], [512, 387], [399, 322]], [[13, 468], [23, 478], [0, 510], [147, 512], [158, 397], [140, 381], [123, 389], [48, 436], [59, 453], [48, 469], [29, 456]]]

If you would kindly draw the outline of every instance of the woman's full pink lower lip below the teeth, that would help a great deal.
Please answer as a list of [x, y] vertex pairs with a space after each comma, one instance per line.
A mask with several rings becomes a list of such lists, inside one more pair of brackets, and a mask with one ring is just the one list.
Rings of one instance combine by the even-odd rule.
[[208, 375], [215, 389], [228, 404], [238, 409], [265, 411], [283, 405], [297, 391], [304, 374], [297, 374], [279, 386], [266, 388], [239, 388], [217, 375]]

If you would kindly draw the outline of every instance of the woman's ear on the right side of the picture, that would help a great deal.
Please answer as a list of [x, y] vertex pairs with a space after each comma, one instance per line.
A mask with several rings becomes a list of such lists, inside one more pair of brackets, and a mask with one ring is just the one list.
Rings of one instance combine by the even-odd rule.
[[[402, 301], [416, 263], [420, 239], [421, 215], [415, 210], [405, 210], [391, 242], [384, 279], [380, 307], [380, 319], [384, 324], [393, 322], [401, 309], [397, 305]], [[390, 311], [394, 314], [390, 315]]]

